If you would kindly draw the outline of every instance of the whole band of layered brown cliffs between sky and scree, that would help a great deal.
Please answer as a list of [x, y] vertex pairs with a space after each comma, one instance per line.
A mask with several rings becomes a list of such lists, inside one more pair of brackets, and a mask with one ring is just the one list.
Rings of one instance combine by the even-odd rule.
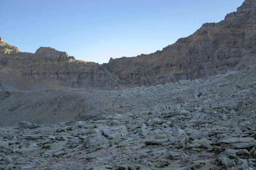
[[24, 53], [1, 39], [0, 79], [3, 84], [21, 89], [121, 89], [240, 70], [256, 64], [255, 21], [256, 0], [245, 0], [223, 21], [205, 23], [193, 35], [180, 38], [162, 50], [137, 57], [110, 59], [102, 65], [78, 61], [52, 48], [41, 47], [35, 54]]

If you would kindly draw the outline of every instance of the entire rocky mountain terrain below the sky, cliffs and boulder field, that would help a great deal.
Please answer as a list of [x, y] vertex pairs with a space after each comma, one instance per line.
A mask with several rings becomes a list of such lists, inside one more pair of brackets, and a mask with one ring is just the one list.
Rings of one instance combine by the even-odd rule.
[[0, 169], [255, 170], [255, 10], [102, 65], [0, 37]]

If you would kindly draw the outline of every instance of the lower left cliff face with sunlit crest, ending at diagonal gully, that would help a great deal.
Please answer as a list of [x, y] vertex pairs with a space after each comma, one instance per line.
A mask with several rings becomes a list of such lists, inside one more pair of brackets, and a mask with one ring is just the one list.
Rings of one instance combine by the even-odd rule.
[[40, 47], [35, 53], [19, 51], [0, 42], [0, 79], [19, 89], [94, 87], [118, 89], [111, 74], [93, 62], [76, 60], [66, 52]]

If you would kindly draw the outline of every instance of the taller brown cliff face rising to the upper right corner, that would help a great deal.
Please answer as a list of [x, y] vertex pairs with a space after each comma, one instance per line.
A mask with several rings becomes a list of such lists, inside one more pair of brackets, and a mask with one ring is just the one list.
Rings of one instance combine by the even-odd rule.
[[255, 0], [245, 0], [223, 21], [205, 23], [161, 51], [111, 59], [104, 66], [118, 83], [134, 87], [202, 78], [255, 64], [255, 9]]

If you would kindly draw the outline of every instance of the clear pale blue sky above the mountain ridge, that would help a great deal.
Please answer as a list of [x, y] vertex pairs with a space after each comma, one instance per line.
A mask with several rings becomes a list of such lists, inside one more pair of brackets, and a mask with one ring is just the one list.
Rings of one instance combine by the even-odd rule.
[[24, 52], [66, 51], [78, 60], [149, 54], [219, 22], [244, 0], [0, 0], [0, 36]]

